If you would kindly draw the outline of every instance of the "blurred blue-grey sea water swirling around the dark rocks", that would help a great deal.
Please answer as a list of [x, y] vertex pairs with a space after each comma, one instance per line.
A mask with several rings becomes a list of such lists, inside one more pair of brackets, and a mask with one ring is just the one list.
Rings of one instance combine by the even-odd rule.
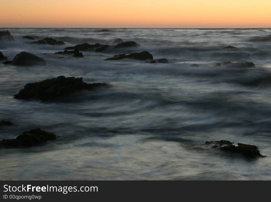
[[[0, 51], [9, 60], [27, 51], [44, 57], [47, 66], [0, 64], [0, 119], [15, 123], [0, 128], [0, 139], [34, 128], [59, 139], [0, 149], [1, 180], [271, 180], [271, 29], [7, 30], [15, 41], [0, 44]], [[66, 45], [30, 44], [24, 35]], [[140, 47], [85, 51], [80, 59], [54, 54], [116, 38]], [[223, 49], [229, 45], [239, 49]], [[170, 64], [104, 61], [143, 50]], [[214, 66], [223, 61], [251, 61], [256, 67]], [[13, 98], [26, 83], [60, 75], [114, 87], [64, 101]], [[257, 145], [267, 157], [248, 160], [204, 146], [221, 139]]]

